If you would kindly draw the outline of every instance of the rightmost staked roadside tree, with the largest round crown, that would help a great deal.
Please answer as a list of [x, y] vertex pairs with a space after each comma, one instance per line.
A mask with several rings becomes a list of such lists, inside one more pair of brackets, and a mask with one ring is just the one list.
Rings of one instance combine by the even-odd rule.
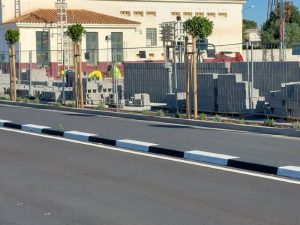
[[[206, 41], [212, 34], [214, 24], [205, 17], [194, 16], [183, 24], [183, 29], [193, 40], [193, 95], [194, 95], [194, 119], [198, 118], [198, 87], [197, 87], [197, 40]], [[188, 100], [188, 99], [187, 99]]]

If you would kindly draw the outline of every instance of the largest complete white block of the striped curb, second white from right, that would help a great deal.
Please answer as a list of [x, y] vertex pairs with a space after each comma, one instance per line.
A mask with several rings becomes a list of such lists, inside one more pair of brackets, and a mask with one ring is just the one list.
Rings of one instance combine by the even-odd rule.
[[184, 158], [200, 162], [212, 163], [216, 165], [227, 166], [229, 159], [237, 159], [239, 157], [193, 150], [185, 152]]

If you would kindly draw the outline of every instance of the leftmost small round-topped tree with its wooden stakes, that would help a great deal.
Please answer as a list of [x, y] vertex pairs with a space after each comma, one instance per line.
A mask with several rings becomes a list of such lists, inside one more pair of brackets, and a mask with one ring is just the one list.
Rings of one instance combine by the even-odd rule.
[[[16, 54], [15, 44], [20, 40], [20, 32], [15, 29], [9, 29], [5, 33], [5, 40], [9, 46], [9, 64], [10, 64], [10, 100], [16, 101]], [[20, 68], [19, 68], [20, 69]]]

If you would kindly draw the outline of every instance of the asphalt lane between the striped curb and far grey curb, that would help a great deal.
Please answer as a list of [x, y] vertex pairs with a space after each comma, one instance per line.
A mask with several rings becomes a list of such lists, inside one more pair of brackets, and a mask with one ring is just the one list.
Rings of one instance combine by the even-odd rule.
[[176, 150], [227, 154], [272, 166], [300, 166], [300, 139], [5, 105], [0, 105], [0, 119], [95, 133], [104, 138], [152, 142]]

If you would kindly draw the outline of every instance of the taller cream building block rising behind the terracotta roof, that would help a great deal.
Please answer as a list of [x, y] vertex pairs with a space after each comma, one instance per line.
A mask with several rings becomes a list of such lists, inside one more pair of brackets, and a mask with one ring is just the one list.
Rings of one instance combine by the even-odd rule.
[[[57, 0], [19, 0], [24, 15], [39, 8], [55, 8]], [[161, 46], [159, 25], [205, 16], [214, 22], [209, 42], [214, 45], [242, 42], [242, 7], [245, 0], [66, 0], [69, 9], [91, 10], [114, 17], [140, 22], [136, 29], [135, 46]], [[15, 0], [0, 0], [0, 22], [15, 17]], [[155, 40], [154, 40], [155, 39]], [[105, 42], [103, 42], [105, 45]], [[125, 47], [130, 43], [124, 43]], [[101, 46], [100, 46], [101, 47]]]

